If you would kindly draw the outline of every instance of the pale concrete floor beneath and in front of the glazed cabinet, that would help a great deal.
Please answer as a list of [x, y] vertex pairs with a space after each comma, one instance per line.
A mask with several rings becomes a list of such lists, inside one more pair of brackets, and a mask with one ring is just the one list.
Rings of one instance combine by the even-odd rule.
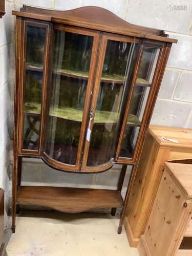
[[25, 211], [16, 219], [8, 256], [138, 256], [124, 229], [117, 234], [119, 216]]

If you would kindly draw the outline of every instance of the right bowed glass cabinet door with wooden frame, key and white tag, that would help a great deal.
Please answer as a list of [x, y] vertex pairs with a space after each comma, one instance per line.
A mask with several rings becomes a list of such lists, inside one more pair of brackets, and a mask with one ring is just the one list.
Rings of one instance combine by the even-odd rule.
[[[140, 49], [139, 40], [134, 37], [102, 35], [82, 162], [82, 169], [87, 172], [106, 170], [114, 163]], [[137, 122], [131, 114], [127, 125]]]

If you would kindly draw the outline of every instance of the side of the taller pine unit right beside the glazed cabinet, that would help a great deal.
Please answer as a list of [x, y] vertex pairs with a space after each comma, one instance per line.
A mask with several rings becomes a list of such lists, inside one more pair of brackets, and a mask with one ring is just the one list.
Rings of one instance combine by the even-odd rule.
[[148, 133], [139, 164], [136, 166], [136, 177], [127, 204], [127, 221], [134, 238], [140, 238], [144, 232], [168, 154], [169, 150], [159, 148], [154, 138]]

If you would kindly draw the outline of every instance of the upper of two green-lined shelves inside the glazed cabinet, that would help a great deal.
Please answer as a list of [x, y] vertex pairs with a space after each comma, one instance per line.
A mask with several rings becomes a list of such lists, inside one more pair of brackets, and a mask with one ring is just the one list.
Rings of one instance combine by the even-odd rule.
[[[33, 66], [33, 65], [27, 65], [26, 70], [30, 71], [36, 71], [36, 72], [42, 72], [41, 66]], [[72, 77], [77, 79], [88, 79], [89, 73], [86, 71], [76, 71], [76, 70], [67, 70], [67, 69], [61, 69], [61, 70], [53, 70], [53, 73], [56, 75], [66, 76], [66, 77]], [[108, 74], [102, 74], [101, 77], [102, 82], [106, 83], [116, 83], [116, 84], [123, 84], [124, 76], [122, 75], [108, 75]], [[147, 80], [142, 78], [137, 78], [136, 81], [137, 86], [151, 86], [151, 83], [149, 83]]]

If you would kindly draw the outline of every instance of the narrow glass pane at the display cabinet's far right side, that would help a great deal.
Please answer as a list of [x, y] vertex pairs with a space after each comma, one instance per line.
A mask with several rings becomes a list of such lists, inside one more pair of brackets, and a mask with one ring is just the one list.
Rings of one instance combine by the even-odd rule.
[[160, 48], [145, 46], [138, 71], [138, 78], [127, 118], [120, 157], [132, 158], [140, 130], [146, 102], [157, 65]]

